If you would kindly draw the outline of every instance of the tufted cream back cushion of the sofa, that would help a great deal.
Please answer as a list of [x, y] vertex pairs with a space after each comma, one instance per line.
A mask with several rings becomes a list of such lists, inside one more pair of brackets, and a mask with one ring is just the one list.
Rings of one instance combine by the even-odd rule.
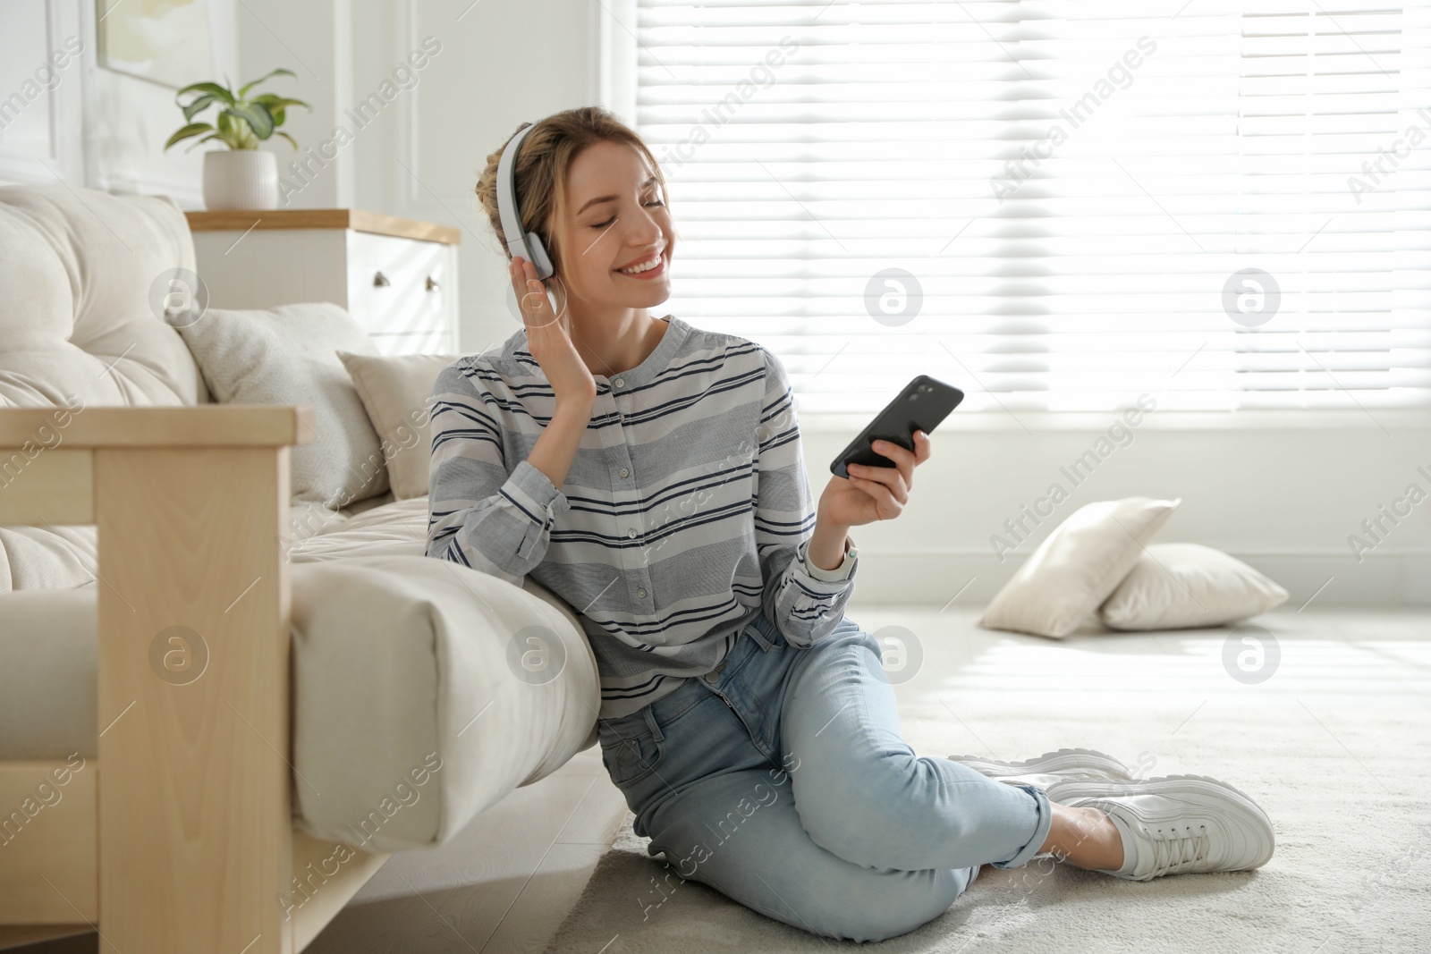
[[[189, 223], [167, 197], [0, 187], [0, 408], [209, 403], [152, 302], [193, 267]], [[0, 461], [0, 486], [23, 478], [16, 458]], [[0, 591], [77, 586], [93, 565], [93, 528], [0, 526]]]

